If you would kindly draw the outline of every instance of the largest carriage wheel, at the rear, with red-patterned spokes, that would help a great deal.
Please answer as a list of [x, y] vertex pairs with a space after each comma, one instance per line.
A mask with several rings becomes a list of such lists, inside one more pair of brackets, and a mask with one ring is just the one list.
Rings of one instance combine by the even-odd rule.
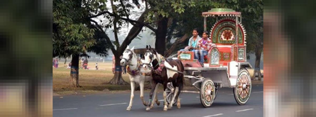
[[234, 97], [239, 105], [247, 103], [251, 92], [251, 79], [248, 70], [240, 69], [239, 76], [234, 88]]

